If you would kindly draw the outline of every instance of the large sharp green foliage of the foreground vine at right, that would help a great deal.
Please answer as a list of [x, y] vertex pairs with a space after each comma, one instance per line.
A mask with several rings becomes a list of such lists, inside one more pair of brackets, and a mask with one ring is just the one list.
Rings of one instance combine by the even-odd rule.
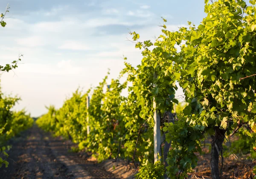
[[[186, 177], [196, 165], [194, 153], [201, 151], [204, 135], [214, 135], [216, 128], [227, 135], [238, 128], [255, 140], [255, 10], [243, 0], [206, 2], [207, 17], [197, 28], [190, 22], [175, 32], [163, 26], [164, 35], [152, 51], [137, 43], [154, 57], [152, 64], [165, 67], [165, 75], [173, 77], [169, 81], [177, 80], [188, 102], [182, 120], [164, 128], [172, 139], [170, 178]], [[137, 40], [138, 34], [132, 34]]]

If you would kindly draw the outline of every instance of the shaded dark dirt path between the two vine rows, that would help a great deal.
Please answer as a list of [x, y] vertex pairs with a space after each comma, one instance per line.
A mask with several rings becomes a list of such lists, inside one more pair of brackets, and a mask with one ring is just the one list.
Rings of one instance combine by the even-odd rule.
[[66, 142], [52, 138], [37, 126], [11, 144], [10, 165], [0, 168], [0, 179], [116, 179], [95, 162], [69, 153]]

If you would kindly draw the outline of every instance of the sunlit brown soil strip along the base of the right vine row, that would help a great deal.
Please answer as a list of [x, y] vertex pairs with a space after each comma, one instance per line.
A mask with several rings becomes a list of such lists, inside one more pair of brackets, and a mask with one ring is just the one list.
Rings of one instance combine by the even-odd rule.
[[[62, 139], [62, 137], [58, 137]], [[238, 140], [239, 137], [232, 139]], [[87, 152], [85, 149], [79, 150], [78, 144], [71, 142], [71, 140], [63, 140], [69, 146], [70, 153], [76, 153], [81, 159], [86, 159], [93, 162], [98, 162], [97, 158], [92, 156], [91, 152]], [[195, 169], [188, 173], [187, 179], [212, 179], [210, 168], [210, 139], [207, 140], [205, 147], [202, 147], [203, 155], [196, 153], [198, 157], [198, 165]], [[204, 145], [204, 143], [202, 144]], [[226, 143], [227, 145], [227, 143]], [[228, 149], [225, 150], [228, 152]], [[222, 179], [253, 179], [253, 167], [255, 163], [250, 159], [250, 154], [241, 153], [228, 153], [224, 157], [224, 168]], [[128, 164], [125, 160], [118, 159], [117, 162], [114, 159], [106, 159], [98, 164], [99, 167], [113, 173], [116, 177], [122, 179], [135, 179], [139, 170], [139, 165]]]

